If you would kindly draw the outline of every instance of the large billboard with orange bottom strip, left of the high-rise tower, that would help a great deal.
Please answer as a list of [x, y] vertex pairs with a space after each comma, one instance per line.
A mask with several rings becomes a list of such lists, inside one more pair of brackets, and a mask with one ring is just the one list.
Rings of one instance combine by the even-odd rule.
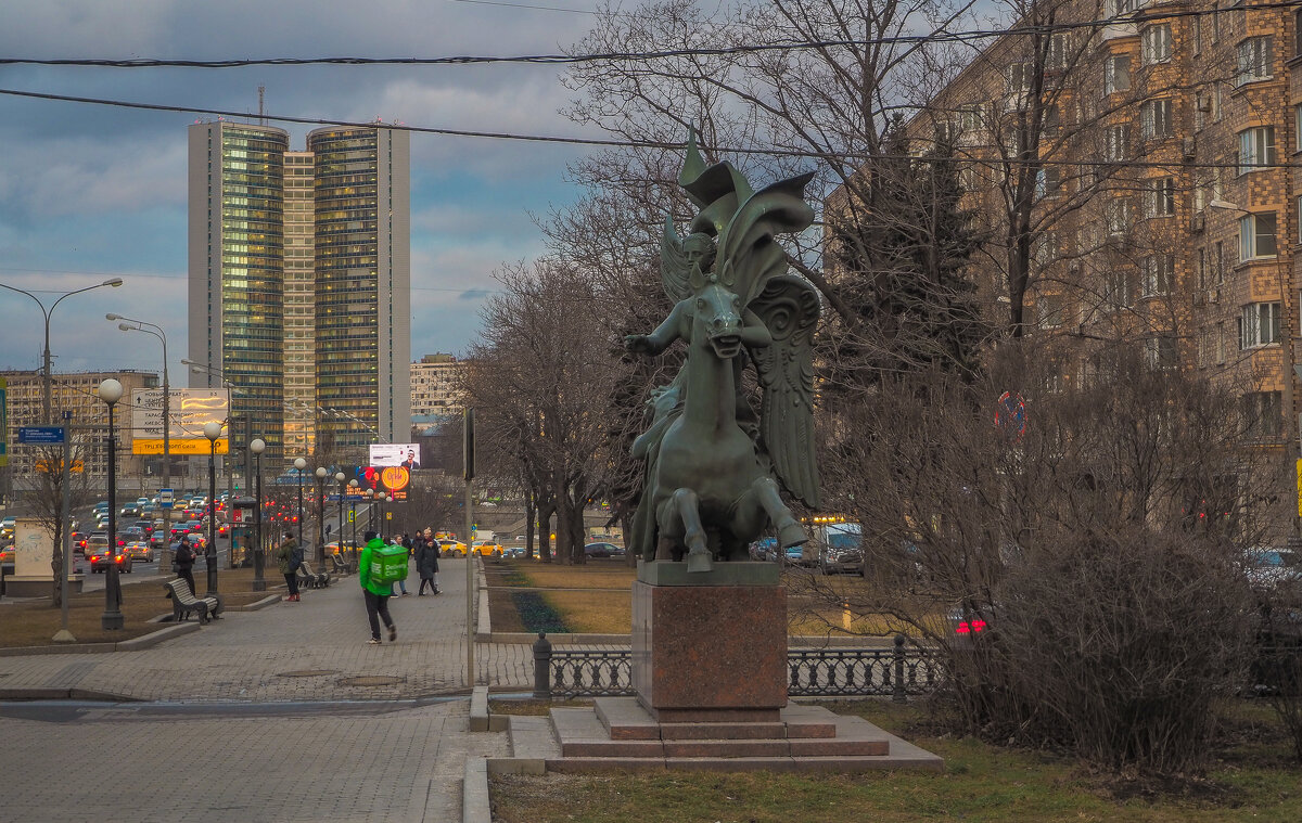
[[[163, 389], [146, 388], [132, 392], [133, 454], [163, 453]], [[207, 454], [208, 439], [203, 426], [210, 421], [225, 423], [230, 415], [230, 400], [225, 389], [173, 388], [168, 398], [168, 447], [173, 454]], [[216, 453], [229, 451], [229, 434], [217, 438]]]

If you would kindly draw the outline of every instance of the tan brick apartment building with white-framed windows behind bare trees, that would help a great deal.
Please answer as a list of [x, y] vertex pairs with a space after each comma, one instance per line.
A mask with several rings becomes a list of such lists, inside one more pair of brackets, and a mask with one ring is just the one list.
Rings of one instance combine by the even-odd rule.
[[1090, 379], [1090, 340], [1129, 337], [1154, 366], [1234, 380], [1263, 443], [1297, 439], [1299, 20], [1251, 1], [1036, 4], [1029, 33], [991, 40], [909, 121], [910, 151], [952, 146], [1005, 323], [1009, 251], [1027, 244], [1026, 333], [1078, 332], [1061, 380]]

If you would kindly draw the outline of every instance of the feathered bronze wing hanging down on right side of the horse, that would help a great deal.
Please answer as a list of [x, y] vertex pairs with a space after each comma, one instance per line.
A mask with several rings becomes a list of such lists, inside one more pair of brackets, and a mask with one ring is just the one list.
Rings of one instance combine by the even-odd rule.
[[760, 438], [786, 490], [810, 508], [819, 508], [818, 457], [814, 440], [814, 328], [822, 311], [818, 290], [794, 275], [768, 280], [750, 303], [773, 336], [753, 346], [751, 357], [764, 388]]

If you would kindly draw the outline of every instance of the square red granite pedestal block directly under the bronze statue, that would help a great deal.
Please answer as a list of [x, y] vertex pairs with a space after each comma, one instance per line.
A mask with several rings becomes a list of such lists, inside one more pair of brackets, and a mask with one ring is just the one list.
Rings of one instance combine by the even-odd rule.
[[634, 582], [633, 688], [661, 723], [777, 721], [786, 590]]

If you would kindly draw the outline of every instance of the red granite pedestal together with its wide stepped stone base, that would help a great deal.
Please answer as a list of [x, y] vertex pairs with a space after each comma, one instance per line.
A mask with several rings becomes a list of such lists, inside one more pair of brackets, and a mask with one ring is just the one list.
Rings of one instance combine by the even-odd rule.
[[512, 718], [516, 770], [943, 768], [867, 720], [788, 703], [786, 593], [776, 565], [719, 563], [706, 574], [685, 565], [638, 564], [637, 695], [553, 708], [549, 724]]

